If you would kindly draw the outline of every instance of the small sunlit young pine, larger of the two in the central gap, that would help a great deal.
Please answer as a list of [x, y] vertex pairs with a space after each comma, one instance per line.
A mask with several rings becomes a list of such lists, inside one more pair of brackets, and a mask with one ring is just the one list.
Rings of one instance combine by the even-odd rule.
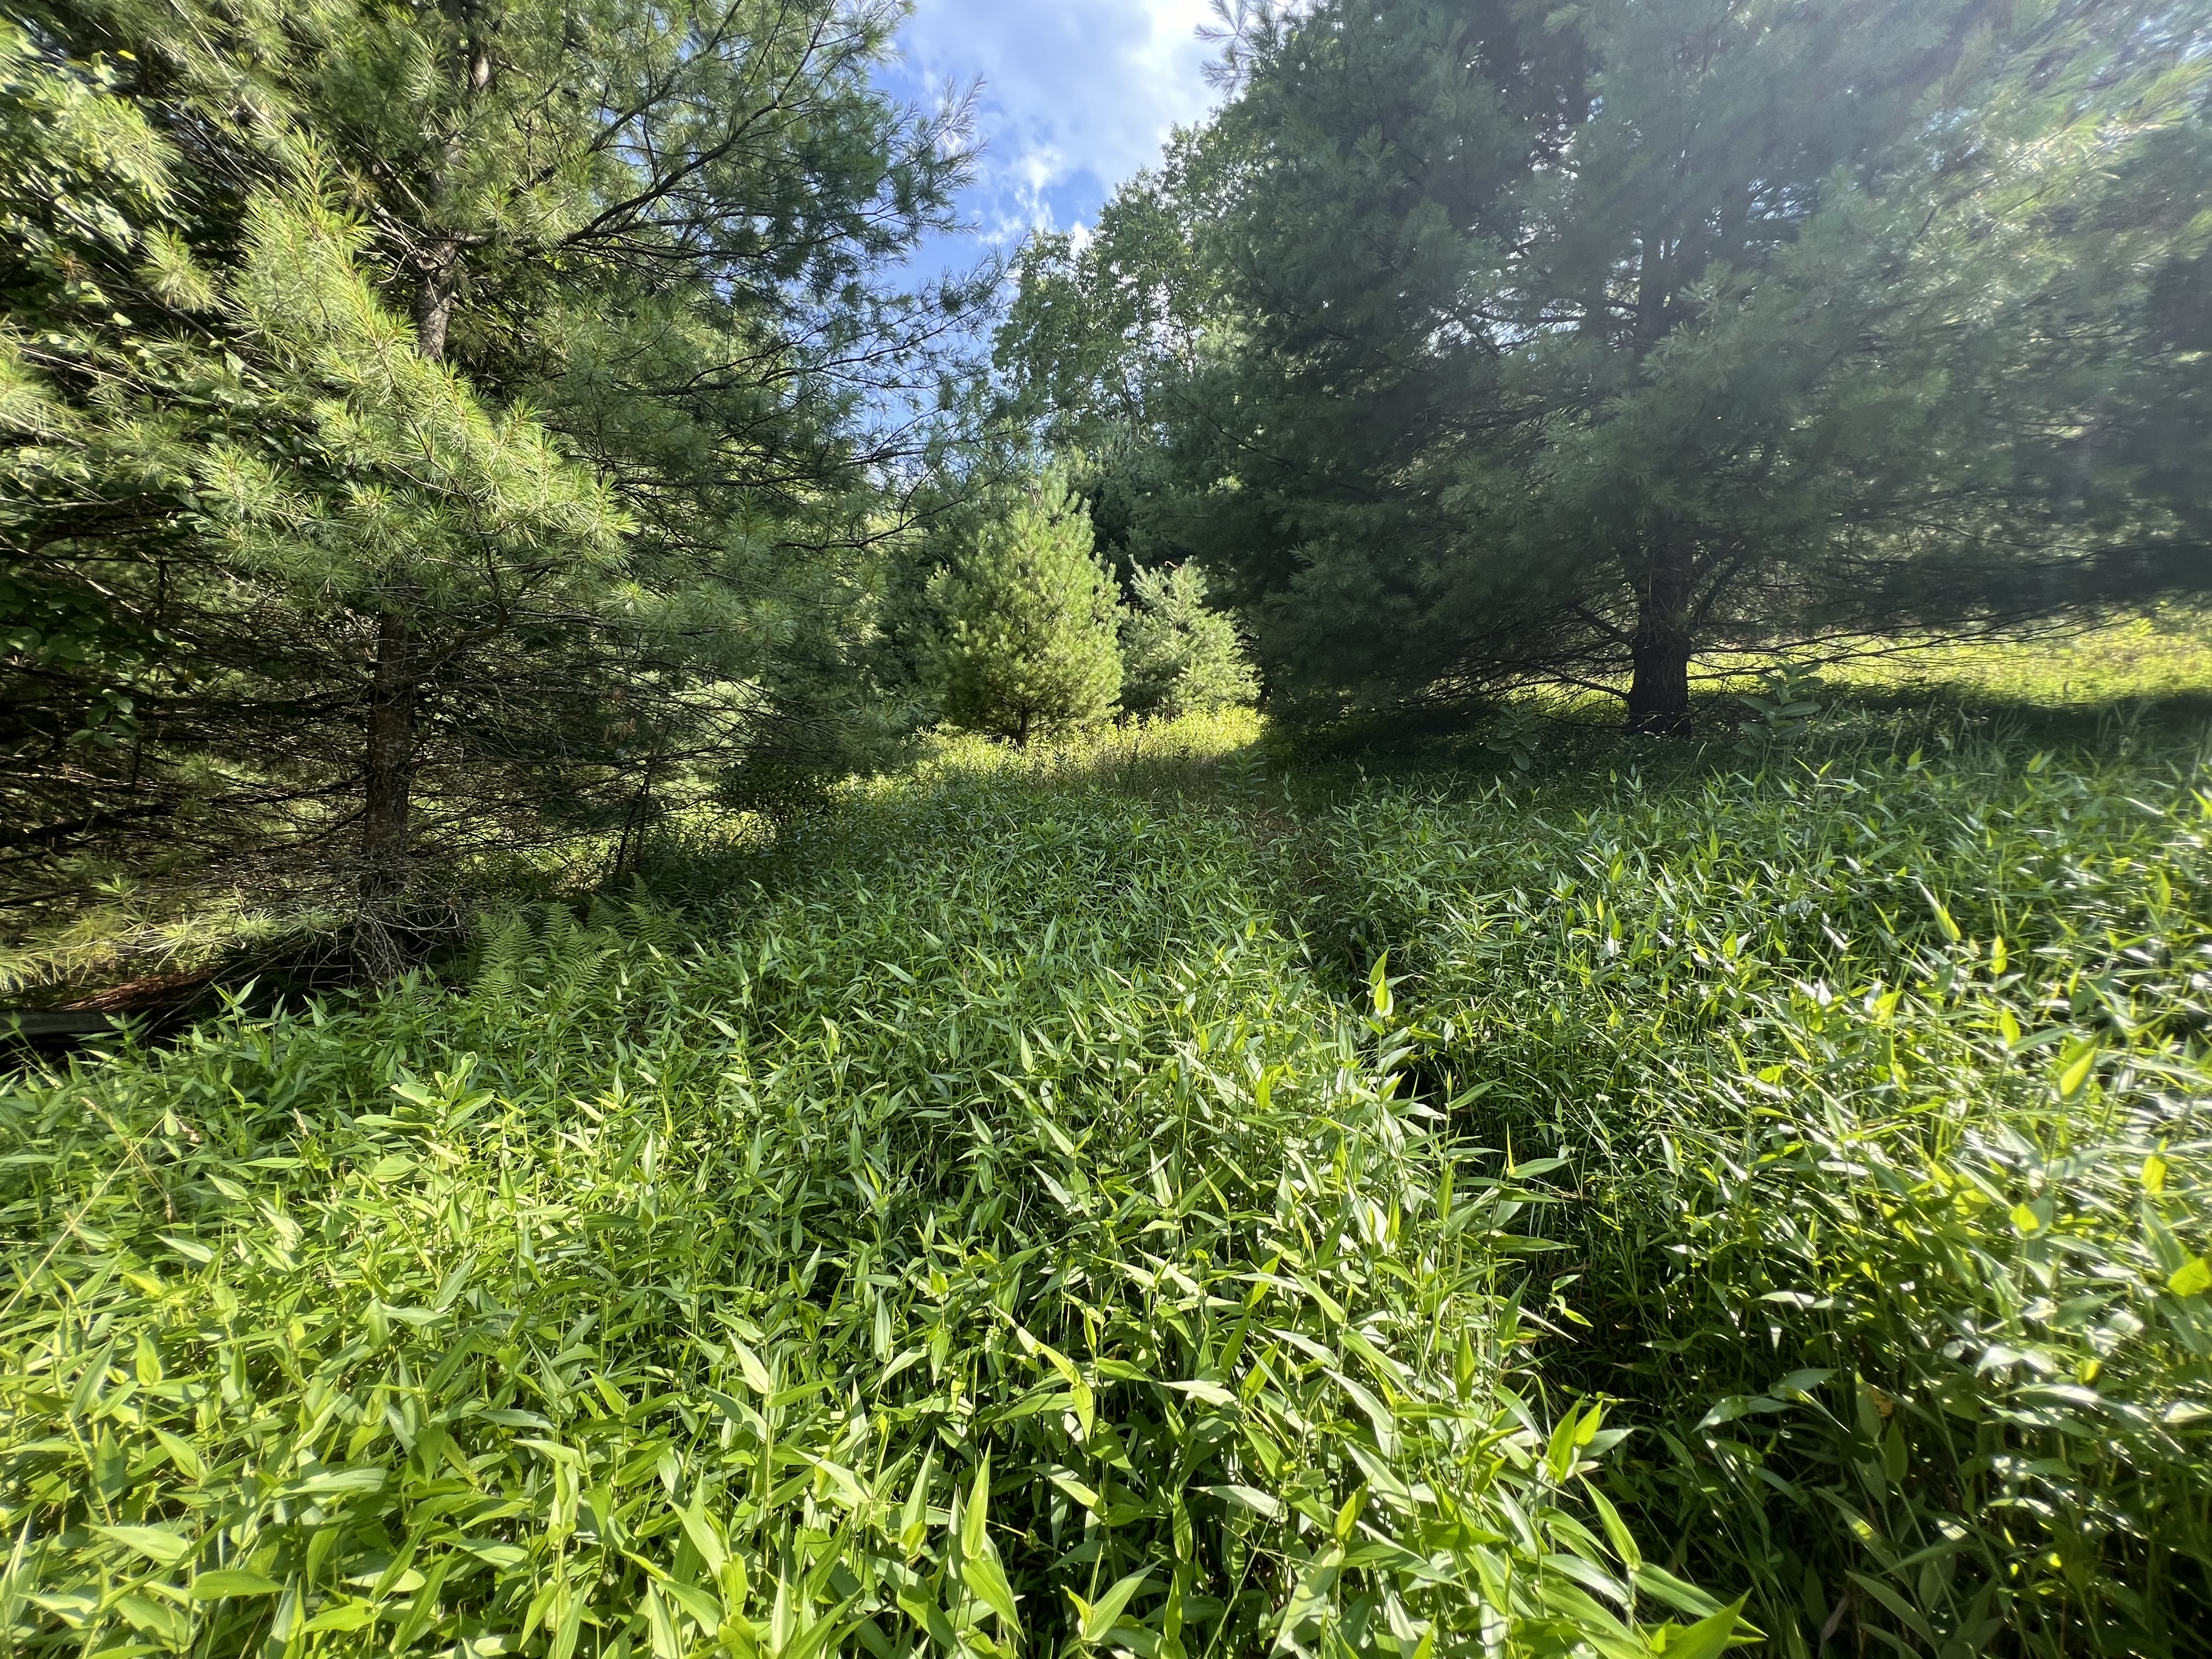
[[1060, 480], [1000, 498], [929, 584], [929, 684], [956, 726], [1026, 743], [1108, 719], [1121, 692], [1117, 593], [1091, 515]]

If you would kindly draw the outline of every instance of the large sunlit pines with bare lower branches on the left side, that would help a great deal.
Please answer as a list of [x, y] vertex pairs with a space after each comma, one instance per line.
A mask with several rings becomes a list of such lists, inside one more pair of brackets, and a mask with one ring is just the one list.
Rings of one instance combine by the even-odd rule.
[[[847, 761], [975, 303], [891, 0], [33, 7], [0, 38], [13, 876], [427, 869]], [[131, 830], [144, 845], [133, 852]], [[71, 876], [75, 869], [75, 876]]]

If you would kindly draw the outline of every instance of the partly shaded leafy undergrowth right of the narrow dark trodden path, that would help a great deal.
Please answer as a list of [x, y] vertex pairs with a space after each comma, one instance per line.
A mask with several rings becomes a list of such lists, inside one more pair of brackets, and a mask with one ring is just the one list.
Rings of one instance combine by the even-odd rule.
[[2117, 748], [1310, 830], [1420, 1066], [1575, 1170], [1537, 1369], [1630, 1402], [1615, 1500], [1783, 1652], [2212, 1632], [2212, 790]]

